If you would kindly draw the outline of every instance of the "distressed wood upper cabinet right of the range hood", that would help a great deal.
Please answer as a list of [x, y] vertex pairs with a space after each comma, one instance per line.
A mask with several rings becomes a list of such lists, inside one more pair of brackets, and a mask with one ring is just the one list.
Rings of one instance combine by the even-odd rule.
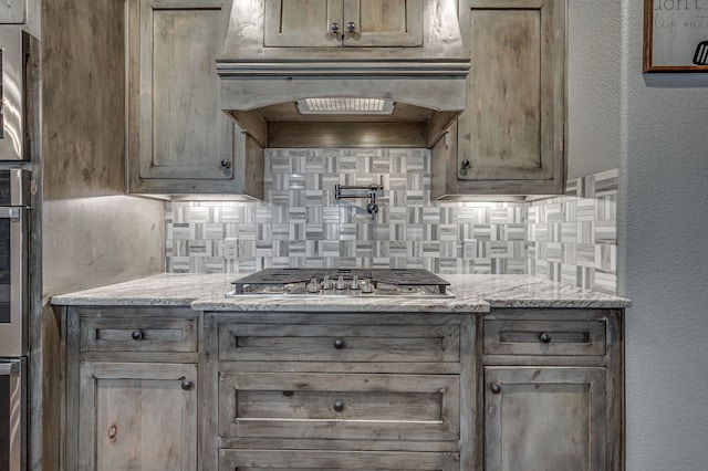
[[465, 0], [466, 111], [434, 148], [433, 198], [565, 185], [565, 0]]

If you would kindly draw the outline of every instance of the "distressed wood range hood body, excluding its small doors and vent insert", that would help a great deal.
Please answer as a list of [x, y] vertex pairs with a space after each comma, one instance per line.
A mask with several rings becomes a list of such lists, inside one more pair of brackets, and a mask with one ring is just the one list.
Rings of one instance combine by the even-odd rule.
[[[469, 57], [455, 0], [408, 1], [419, 21], [408, 18], [406, 28], [420, 34], [404, 46], [339, 45], [346, 33], [327, 35], [326, 18], [322, 36], [334, 45], [293, 46], [273, 18], [281, 2], [235, 0], [217, 59], [221, 108], [263, 147], [433, 147], [465, 108]], [[305, 98], [383, 98], [394, 108], [303, 114]]]

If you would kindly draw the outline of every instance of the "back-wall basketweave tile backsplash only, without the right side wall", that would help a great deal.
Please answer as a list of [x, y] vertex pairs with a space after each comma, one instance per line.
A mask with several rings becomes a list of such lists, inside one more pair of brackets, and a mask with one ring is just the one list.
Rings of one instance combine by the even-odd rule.
[[[268, 149], [264, 178], [262, 202], [168, 202], [167, 271], [527, 270], [525, 203], [430, 202], [427, 149]], [[375, 217], [367, 199], [335, 199], [336, 184], [381, 181]]]

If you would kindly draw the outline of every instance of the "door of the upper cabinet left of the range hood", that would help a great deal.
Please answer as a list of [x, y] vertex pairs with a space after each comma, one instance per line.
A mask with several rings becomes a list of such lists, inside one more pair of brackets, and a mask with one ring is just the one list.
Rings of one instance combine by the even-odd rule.
[[142, 3], [140, 177], [230, 179], [235, 125], [221, 111], [214, 72], [220, 3]]

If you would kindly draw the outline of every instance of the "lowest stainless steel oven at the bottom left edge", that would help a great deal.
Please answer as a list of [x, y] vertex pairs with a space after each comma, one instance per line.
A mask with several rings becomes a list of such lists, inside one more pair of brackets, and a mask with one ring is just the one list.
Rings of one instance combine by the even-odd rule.
[[25, 359], [0, 359], [0, 471], [25, 469]]

